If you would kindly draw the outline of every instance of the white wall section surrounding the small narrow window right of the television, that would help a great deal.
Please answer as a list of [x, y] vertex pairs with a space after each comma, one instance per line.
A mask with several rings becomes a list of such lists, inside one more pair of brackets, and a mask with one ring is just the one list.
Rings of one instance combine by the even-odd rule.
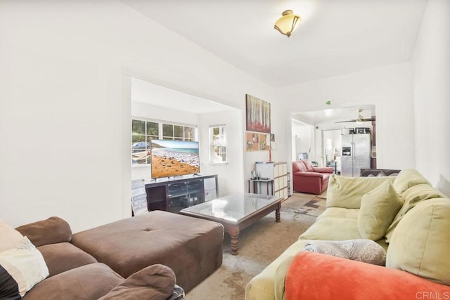
[[[231, 109], [200, 115], [200, 172], [201, 174], [217, 174], [219, 196], [243, 191], [243, 182], [247, 178], [243, 174], [243, 127], [242, 112]], [[225, 124], [227, 164], [209, 164], [209, 127]], [[250, 174], [250, 172], [249, 172]], [[250, 176], [250, 175], [249, 175]]]

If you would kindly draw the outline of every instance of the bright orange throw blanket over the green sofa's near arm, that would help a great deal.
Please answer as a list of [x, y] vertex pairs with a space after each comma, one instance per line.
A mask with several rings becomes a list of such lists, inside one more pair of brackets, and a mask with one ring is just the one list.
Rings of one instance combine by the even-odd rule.
[[450, 299], [450, 286], [402, 270], [300, 252], [286, 274], [285, 299]]

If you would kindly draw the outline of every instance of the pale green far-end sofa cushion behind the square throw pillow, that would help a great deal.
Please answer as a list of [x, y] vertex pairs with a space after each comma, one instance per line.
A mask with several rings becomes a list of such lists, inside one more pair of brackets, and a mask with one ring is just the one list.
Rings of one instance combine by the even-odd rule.
[[328, 181], [326, 207], [359, 209], [361, 197], [395, 177], [345, 177], [333, 174]]

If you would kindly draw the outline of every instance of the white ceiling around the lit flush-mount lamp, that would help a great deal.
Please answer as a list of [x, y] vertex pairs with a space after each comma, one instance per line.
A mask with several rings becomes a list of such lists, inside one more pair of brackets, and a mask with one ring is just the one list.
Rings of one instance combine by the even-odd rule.
[[[122, 0], [274, 87], [410, 60], [427, 0]], [[302, 17], [288, 38], [285, 9]]]

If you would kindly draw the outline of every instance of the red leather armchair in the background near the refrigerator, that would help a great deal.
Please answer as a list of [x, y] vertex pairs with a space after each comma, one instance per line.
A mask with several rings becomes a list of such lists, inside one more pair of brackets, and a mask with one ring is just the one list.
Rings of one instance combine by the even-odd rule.
[[294, 192], [320, 195], [328, 188], [328, 178], [333, 171], [333, 167], [313, 167], [307, 159], [293, 162]]

